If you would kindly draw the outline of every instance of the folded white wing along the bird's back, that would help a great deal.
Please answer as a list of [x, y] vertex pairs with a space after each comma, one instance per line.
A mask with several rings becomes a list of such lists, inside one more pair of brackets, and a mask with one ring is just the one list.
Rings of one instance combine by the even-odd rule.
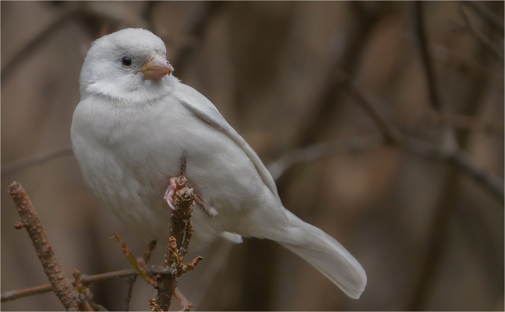
[[249, 144], [245, 142], [245, 140], [237, 133], [237, 131], [235, 131], [235, 129], [228, 123], [228, 121], [224, 119], [223, 115], [221, 115], [216, 106], [214, 106], [214, 104], [212, 104], [209, 99], [207, 99], [198, 91], [194, 90], [194, 88], [183, 83], [179, 83], [178, 88], [175, 92], [175, 96], [196, 116], [209, 122], [216, 128], [226, 133], [228, 137], [230, 137], [238, 146], [240, 146], [255, 164], [256, 170], [258, 170], [258, 173], [260, 174], [261, 179], [265, 185], [276, 197], [279, 197], [275, 181], [272, 175], [270, 175], [267, 167], [265, 167], [261, 161], [258, 154], [256, 154], [256, 152], [249, 146]]

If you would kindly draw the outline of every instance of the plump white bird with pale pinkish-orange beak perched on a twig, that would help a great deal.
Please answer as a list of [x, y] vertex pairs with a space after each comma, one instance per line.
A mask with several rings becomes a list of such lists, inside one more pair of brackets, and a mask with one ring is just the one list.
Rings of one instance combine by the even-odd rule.
[[91, 44], [80, 75], [72, 147], [86, 184], [127, 226], [168, 239], [170, 178], [186, 157], [191, 243], [218, 236], [274, 240], [351, 298], [367, 284], [361, 264], [334, 238], [283, 207], [258, 155], [205, 96], [179, 81], [160, 37], [123, 29]]

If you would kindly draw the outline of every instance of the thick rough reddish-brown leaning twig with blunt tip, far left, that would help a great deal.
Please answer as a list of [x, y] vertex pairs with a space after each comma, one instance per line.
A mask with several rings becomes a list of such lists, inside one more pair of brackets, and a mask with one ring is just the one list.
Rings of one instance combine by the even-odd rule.
[[26, 195], [23, 186], [17, 182], [13, 182], [9, 187], [9, 195], [11, 195], [14, 200], [20, 216], [19, 221], [14, 224], [14, 227], [18, 230], [26, 228], [38, 259], [42, 264], [44, 273], [63, 306], [65, 306], [67, 310], [77, 309], [77, 303], [75, 301], [77, 293], [74, 287], [72, 287], [72, 284], [65, 277], [62, 266], [58, 262], [58, 258], [47, 240], [44, 229], [38, 220], [37, 213]]

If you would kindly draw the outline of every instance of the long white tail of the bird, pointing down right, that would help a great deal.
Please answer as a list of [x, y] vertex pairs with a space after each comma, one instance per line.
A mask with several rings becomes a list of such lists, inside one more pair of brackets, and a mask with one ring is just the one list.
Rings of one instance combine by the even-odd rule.
[[290, 226], [264, 237], [279, 242], [305, 259], [350, 298], [360, 298], [367, 286], [367, 275], [360, 262], [321, 229], [302, 221], [285, 208], [284, 212]]

